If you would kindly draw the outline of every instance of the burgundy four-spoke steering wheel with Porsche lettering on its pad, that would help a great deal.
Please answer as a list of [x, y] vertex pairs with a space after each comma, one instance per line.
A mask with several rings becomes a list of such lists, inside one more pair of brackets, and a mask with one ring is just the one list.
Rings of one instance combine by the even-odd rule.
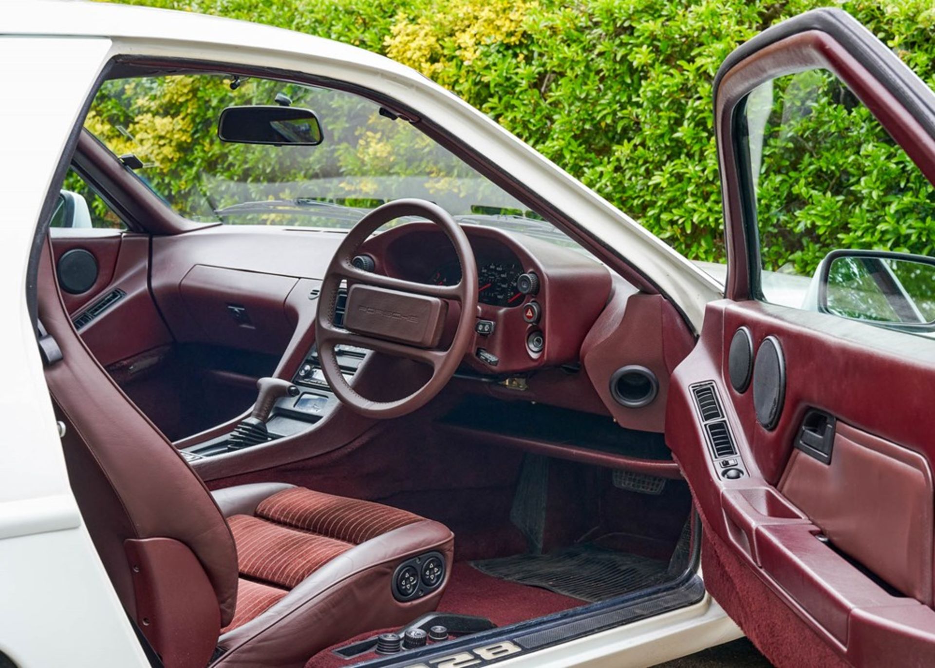
[[[402, 216], [425, 218], [444, 230], [461, 264], [460, 283], [413, 283], [369, 273], [352, 265], [357, 249], [377, 228]], [[342, 280], [348, 283], [348, 297], [344, 323], [338, 327], [335, 306]], [[423, 199], [397, 199], [370, 211], [341, 241], [324, 274], [315, 319], [315, 341], [325, 380], [342, 403], [367, 417], [399, 417], [421, 408], [451, 380], [468, 352], [474, 338], [477, 298], [474, 252], [464, 230], [448, 211]], [[448, 350], [439, 350], [449, 299], [461, 302], [461, 314], [451, 346]], [[341, 343], [423, 362], [432, 368], [432, 375], [408, 397], [372, 401], [355, 392], [341, 373], [335, 353], [336, 346]]]

